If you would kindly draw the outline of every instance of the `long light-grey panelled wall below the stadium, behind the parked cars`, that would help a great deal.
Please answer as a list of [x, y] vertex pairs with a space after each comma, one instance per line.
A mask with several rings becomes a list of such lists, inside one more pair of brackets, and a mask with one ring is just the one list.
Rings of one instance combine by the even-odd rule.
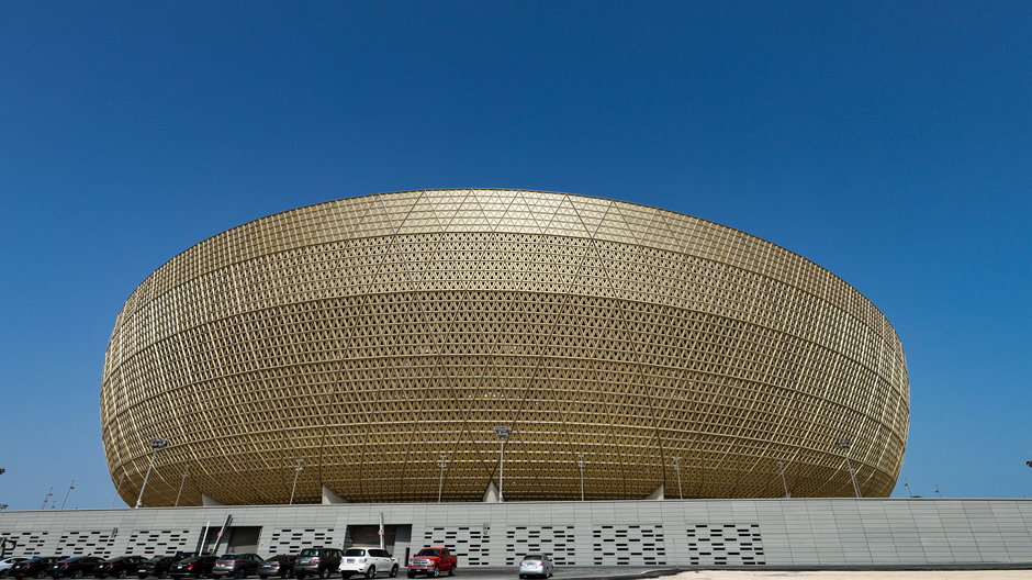
[[1032, 567], [1032, 500], [789, 499], [386, 503], [0, 513], [8, 555], [295, 554], [447, 546], [460, 568]]

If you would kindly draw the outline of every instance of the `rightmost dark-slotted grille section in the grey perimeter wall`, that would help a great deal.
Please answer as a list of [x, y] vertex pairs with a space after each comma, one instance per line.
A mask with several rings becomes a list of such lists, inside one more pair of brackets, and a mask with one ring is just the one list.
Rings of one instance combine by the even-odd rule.
[[688, 527], [693, 566], [762, 566], [759, 524], [696, 524]]

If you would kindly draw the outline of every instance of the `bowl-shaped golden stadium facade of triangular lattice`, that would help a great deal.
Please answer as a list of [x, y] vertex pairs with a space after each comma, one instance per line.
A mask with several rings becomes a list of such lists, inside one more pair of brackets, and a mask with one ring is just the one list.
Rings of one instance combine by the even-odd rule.
[[131, 504], [152, 458], [146, 505], [479, 501], [496, 426], [506, 501], [852, 495], [846, 456], [886, 497], [908, 390], [885, 316], [774, 244], [427, 190], [262, 217], [158, 268], [117, 316], [101, 420]]

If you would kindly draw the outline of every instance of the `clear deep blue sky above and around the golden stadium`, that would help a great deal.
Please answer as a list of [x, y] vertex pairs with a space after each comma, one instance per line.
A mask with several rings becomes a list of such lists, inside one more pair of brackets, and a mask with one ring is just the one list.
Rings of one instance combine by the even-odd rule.
[[[2, 2], [0, 503], [113, 499], [114, 319], [298, 205], [490, 187], [730, 225], [907, 350], [913, 492], [1032, 495], [1029, 2]], [[906, 495], [902, 478], [896, 495]]]

